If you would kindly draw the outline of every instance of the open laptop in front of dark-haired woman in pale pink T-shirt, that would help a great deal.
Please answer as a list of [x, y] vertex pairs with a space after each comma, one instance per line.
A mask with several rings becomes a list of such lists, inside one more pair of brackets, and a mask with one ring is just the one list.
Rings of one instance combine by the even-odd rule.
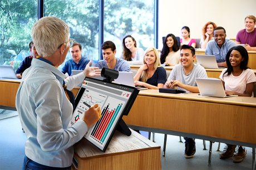
[[201, 79], [195, 78], [196, 84], [201, 96], [211, 96], [211, 97], [233, 97], [238, 95], [227, 96], [223, 84], [220, 79], [208, 78]]

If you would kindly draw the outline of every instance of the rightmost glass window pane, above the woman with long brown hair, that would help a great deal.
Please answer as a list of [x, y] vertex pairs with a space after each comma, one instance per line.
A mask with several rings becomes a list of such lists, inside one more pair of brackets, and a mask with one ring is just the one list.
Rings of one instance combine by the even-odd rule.
[[126, 35], [135, 38], [137, 47], [154, 47], [154, 0], [105, 0], [104, 6], [104, 41], [115, 43], [117, 58]]

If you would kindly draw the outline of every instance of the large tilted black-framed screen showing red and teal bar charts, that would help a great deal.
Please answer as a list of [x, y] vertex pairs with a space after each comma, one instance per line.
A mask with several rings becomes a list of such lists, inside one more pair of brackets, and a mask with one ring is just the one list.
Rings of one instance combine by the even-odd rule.
[[115, 130], [120, 128], [120, 123], [124, 125], [122, 116], [129, 113], [137, 94], [139, 90], [135, 87], [85, 78], [75, 98], [76, 109], [72, 115], [71, 125], [82, 120], [83, 114], [90, 106], [99, 104], [101, 118], [88, 128], [84, 137], [105, 152]]

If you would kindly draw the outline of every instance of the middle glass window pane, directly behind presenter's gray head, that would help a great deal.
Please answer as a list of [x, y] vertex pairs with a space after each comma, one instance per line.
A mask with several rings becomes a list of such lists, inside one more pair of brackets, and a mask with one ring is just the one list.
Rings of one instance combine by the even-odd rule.
[[[82, 45], [82, 56], [99, 61], [99, 1], [44, 1], [45, 16], [64, 20], [70, 27], [70, 38]], [[66, 60], [71, 59], [68, 52]], [[65, 61], [66, 61], [65, 60]], [[61, 69], [65, 62], [59, 66]]]

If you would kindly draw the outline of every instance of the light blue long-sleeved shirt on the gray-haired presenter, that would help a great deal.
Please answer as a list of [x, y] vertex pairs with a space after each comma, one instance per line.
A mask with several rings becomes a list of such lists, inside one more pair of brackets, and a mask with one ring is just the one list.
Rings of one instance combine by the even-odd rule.
[[[26, 132], [25, 154], [50, 167], [71, 166], [73, 145], [87, 131], [84, 121], [71, 126], [73, 107], [62, 87], [65, 75], [54, 66], [33, 59], [23, 72], [16, 109]], [[85, 78], [83, 73], [65, 79], [71, 90]]]

